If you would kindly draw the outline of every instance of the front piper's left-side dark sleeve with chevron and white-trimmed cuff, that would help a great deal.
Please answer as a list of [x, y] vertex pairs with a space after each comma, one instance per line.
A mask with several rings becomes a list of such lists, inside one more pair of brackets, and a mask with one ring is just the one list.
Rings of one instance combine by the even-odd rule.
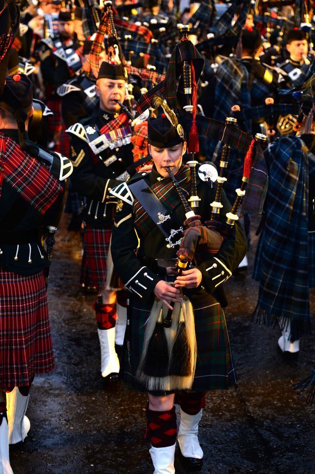
[[137, 258], [137, 247], [132, 206], [119, 200], [112, 229], [114, 267], [127, 290], [142, 301], [147, 301], [161, 278]]

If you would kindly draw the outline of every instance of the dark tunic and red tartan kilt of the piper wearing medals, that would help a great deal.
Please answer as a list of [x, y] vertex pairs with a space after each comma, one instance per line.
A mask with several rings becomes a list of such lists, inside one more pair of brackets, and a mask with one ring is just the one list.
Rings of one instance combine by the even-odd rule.
[[[109, 191], [121, 183], [115, 177], [133, 163], [131, 144], [107, 148], [98, 155], [94, 154], [89, 145], [89, 137], [94, 137], [95, 132], [113, 118], [112, 114], [96, 109], [95, 115], [86, 121], [84, 127], [81, 124], [73, 126], [85, 138], [81, 138], [79, 132], [71, 135], [70, 154], [74, 166], [72, 184], [86, 199], [83, 210], [85, 234], [80, 282], [98, 290], [102, 290], [107, 282], [107, 255], [117, 203]], [[110, 161], [113, 163], [109, 164]]]

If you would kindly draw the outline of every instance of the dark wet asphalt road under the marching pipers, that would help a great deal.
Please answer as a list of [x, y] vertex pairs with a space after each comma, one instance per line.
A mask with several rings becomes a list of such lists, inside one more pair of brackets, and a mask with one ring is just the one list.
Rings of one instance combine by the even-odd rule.
[[[11, 465], [14, 474], [150, 474], [150, 445], [143, 440], [146, 396], [121, 381], [104, 385], [95, 297], [78, 285], [80, 236], [67, 231], [68, 221], [64, 215], [56, 234], [49, 284], [56, 369], [35, 378], [27, 413], [31, 430], [23, 445], [11, 447]], [[299, 360], [288, 364], [277, 351], [280, 331], [251, 322], [256, 242], [247, 272], [226, 283], [239, 384], [207, 394], [199, 431], [201, 474], [314, 474], [315, 406], [307, 407], [291, 389], [315, 362], [314, 336], [301, 342]], [[313, 290], [311, 309], [314, 314]], [[176, 472], [186, 471], [178, 466]]]

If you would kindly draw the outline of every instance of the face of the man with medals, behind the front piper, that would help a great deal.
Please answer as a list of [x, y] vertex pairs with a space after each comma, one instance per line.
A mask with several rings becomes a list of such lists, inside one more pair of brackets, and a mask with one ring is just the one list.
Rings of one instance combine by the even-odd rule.
[[118, 112], [125, 96], [125, 81], [122, 79], [99, 79], [95, 86], [96, 95], [99, 97], [99, 107], [110, 113]]

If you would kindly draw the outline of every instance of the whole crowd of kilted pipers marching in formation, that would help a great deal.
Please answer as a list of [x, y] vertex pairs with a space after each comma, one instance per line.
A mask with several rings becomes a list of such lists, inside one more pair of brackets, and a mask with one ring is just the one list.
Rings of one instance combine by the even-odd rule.
[[[223, 284], [247, 265], [250, 215], [254, 320], [280, 328], [287, 359], [310, 332], [315, 4], [0, 4], [0, 473], [30, 429], [35, 374], [54, 368], [47, 278], [65, 210], [101, 376], [148, 392], [155, 474], [175, 472], [177, 441], [201, 470], [205, 393], [237, 382]], [[311, 404], [315, 368], [296, 388]]]

